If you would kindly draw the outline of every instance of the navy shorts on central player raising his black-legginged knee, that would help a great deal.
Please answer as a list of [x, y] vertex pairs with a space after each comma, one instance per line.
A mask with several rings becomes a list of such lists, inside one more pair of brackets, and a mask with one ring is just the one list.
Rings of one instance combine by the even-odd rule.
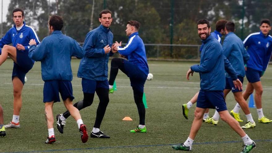
[[147, 80], [147, 75], [138, 68], [137, 65], [124, 60], [125, 74], [130, 78], [130, 85], [134, 89], [143, 93], [143, 87]]

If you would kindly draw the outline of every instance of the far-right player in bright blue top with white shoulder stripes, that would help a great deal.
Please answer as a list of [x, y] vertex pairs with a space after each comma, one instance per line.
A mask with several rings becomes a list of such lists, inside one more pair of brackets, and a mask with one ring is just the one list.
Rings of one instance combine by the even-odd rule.
[[[263, 92], [261, 77], [266, 70], [272, 52], [272, 36], [269, 35], [269, 31], [271, 30], [269, 19], [261, 20], [260, 30], [260, 32], [250, 34], [244, 40], [244, 47], [247, 47], [250, 58], [246, 64], [245, 71], [249, 83], [243, 93], [243, 97], [247, 100], [255, 90], [254, 100], [257, 107], [258, 121], [260, 123], [271, 123], [272, 120], [264, 116], [261, 105], [261, 95]], [[236, 104], [233, 110], [239, 113], [240, 105]]]

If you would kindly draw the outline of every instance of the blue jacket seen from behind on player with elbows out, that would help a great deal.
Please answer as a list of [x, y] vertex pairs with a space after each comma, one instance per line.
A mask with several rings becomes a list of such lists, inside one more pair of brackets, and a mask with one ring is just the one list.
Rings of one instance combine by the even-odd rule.
[[39, 45], [31, 45], [28, 56], [41, 62], [41, 76], [44, 81], [72, 81], [71, 57], [83, 58], [85, 50], [71, 37], [61, 31], [53, 31]]

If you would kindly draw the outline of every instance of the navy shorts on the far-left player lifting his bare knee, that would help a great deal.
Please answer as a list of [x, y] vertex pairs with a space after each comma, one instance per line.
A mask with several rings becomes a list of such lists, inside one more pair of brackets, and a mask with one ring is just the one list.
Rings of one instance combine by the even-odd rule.
[[16, 55], [17, 64], [13, 64], [12, 79], [17, 76], [24, 84], [25, 74], [32, 69], [34, 62], [28, 57], [28, 52], [17, 49]]

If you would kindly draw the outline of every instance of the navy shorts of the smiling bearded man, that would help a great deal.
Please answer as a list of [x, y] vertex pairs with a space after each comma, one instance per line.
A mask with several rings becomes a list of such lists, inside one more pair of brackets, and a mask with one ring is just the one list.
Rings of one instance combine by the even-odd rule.
[[223, 91], [203, 91], [200, 90], [197, 100], [198, 108], [213, 108], [217, 112], [227, 110]]

